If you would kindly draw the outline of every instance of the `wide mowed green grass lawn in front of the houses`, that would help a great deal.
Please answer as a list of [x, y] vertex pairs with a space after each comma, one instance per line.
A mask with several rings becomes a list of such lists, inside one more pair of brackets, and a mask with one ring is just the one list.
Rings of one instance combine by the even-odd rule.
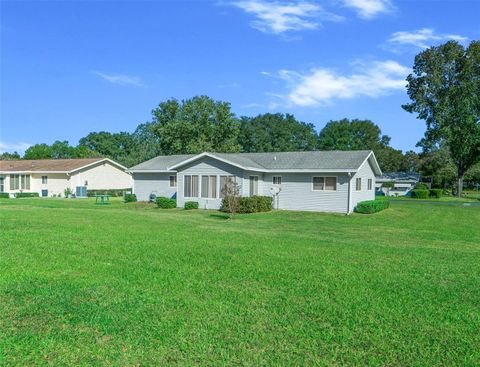
[[0, 201], [0, 365], [480, 365], [480, 208]]

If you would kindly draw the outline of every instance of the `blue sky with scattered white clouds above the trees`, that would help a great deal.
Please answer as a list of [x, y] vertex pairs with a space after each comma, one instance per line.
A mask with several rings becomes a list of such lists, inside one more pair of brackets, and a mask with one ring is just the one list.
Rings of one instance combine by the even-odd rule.
[[2, 1], [0, 151], [133, 131], [159, 102], [206, 94], [241, 115], [321, 129], [377, 123], [414, 149], [401, 109], [429, 45], [480, 38], [480, 1]]

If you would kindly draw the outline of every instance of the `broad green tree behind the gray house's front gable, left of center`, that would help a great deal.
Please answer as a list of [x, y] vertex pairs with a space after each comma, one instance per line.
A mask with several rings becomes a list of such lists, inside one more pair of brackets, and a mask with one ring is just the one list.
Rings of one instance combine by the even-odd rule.
[[239, 123], [228, 102], [207, 96], [170, 99], [152, 114], [163, 154], [240, 151]]

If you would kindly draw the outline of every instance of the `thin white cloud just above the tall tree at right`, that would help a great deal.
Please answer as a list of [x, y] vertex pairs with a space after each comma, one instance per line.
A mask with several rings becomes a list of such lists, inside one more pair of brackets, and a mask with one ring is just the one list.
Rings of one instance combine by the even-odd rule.
[[411, 32], [401, 31], [393, 33], [387, 41], [387, 47], [392, 51], [410, 47], [423, 49], [437, 42], [450, 40], [463, 42], [467, 39], [467, 37], [458, 34], [438, 34], [432, 28], [422, 28]]

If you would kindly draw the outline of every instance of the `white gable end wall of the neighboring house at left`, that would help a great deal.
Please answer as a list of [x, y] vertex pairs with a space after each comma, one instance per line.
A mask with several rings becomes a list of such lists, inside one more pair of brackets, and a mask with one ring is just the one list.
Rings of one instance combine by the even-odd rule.
[[132, 188], [132, 176], [109, 162], [89, 166], [74, 172], [70, 176], [70, 188], [75, 192], [77, 186], [88, 190], [120, 190]]

